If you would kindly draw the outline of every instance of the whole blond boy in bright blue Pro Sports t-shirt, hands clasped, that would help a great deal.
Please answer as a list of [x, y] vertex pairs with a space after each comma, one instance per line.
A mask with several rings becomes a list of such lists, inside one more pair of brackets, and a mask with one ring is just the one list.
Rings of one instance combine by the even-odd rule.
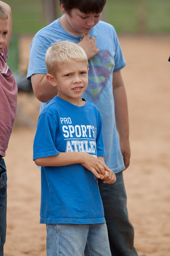
[[[106, 155], [98, 108], [82, 99], [88, 85], [84, 50], [69, 41], [46, 54], [48, 82], [58, 94], [41, 112], [33, 159], [41, 168], [41, 219], [47, 255], [111, 255], [98, 178], [115, 182]], [[89, 254], [88, 254], [89, 255]]]

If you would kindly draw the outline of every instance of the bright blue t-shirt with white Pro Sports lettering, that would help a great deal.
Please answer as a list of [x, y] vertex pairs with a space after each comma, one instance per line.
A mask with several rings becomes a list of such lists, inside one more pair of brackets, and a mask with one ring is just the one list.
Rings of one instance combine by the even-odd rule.
[[[78, 151], [106, 155], [100, 112], [55, 96], [39, 116], [33, 159]], [[46, 224], [105, 222], [97, 178], [81, 164], [41, 167], [40, 216]]]

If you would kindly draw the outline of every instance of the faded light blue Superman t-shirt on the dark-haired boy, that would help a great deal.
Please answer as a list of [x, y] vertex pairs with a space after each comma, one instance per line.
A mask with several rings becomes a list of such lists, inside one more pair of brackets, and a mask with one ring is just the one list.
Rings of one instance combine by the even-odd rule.
[[[120, 150], [115, 124], [115, 105], [113, 98], [113, 72], [122, 69], [126, 62], [112, 25], [99, 21], [90, 31], [90, 37], [95, 36], [100, 52], [89, 60], [88, 87], [83, 97], [95, 104], [101, 114], [102, 132], [107, 156], [104, 157], [107, 166], [115, 173], [125, 169]], [[78, 43], [82, 36], [72, 36], [61, 26], [59, 19], [42, 28], [33, 38], [30, 47], [30, 62], [27, 79], [33, 74], [46, 74], [45, 55], [51, 43], [58, 40], [69, 40]], [[50, 102], [50, 101], [48, 101]], [[41, 103], [41, 109], [48, 104]]]

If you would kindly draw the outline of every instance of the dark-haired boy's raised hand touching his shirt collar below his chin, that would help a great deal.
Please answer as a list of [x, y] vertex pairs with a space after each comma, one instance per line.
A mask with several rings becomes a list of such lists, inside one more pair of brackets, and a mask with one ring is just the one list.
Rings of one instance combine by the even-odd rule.
[[86, 33], [84, 38], [80, 38], [80, 42], [78, 43], [78, 45], [85, 51], [88, 60], [92, 59], [92, 57], [100, 51], [99, 49], [96, 49], [97, 43], [95, 43], [95, 40], [96, 38], [94, 36], [90, 37], [90, 34]]

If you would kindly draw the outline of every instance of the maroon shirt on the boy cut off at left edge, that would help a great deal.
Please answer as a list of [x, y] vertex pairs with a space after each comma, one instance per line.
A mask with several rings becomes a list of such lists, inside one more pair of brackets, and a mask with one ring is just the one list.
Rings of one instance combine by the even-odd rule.
[[0, 53], [0, 155], [5, 156], [17, 111], [17, 84], [6, 63], [8, 46]]

